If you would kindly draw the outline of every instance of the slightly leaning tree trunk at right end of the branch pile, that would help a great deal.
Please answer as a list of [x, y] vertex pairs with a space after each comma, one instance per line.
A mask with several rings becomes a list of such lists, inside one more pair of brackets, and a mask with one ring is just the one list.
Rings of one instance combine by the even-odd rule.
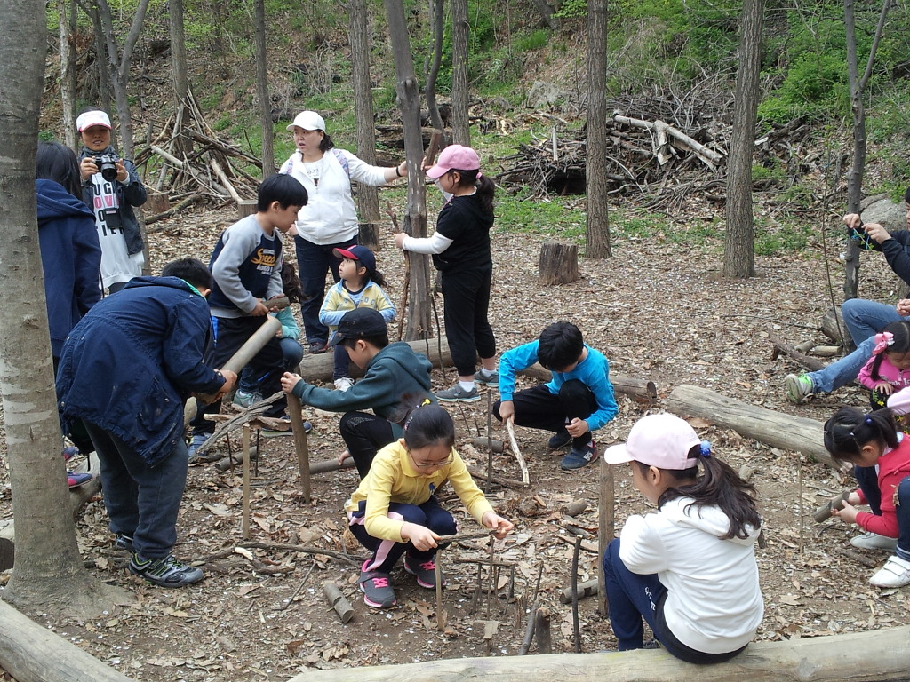
[[752, 206], [752, 152], [762, 63], [764, 0], [744, 0], [740, 21], [739, 70], [733, 97], [733, 135], [727, 159], [727, 231], [723, 240], [723, 275], [755, 274]]

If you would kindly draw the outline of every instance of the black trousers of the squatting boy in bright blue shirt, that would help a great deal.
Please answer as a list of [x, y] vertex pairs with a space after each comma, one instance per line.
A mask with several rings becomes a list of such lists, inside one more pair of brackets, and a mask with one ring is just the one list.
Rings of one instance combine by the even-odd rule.
[[[501, 400], [493, 403], [493, 416], [500, 416]], [[560, 386], [560, 392], [550, 392], [545, 384], [531, 386], [512, 396], [515, 404], [515, 424], [559, 433], [572, 419], [587, 419], [597, 409], [597, 398], [579, 379], [569, 379]], [[572, 446], [582, 447], [591, 441], [591, 431], [572, 438]]]

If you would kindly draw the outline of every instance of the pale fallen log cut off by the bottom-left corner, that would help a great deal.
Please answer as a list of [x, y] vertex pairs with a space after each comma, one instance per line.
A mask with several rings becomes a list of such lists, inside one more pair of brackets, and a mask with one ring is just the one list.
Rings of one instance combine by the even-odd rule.
[[0, 601], [0, 667], [17, 682], [133, 682]]

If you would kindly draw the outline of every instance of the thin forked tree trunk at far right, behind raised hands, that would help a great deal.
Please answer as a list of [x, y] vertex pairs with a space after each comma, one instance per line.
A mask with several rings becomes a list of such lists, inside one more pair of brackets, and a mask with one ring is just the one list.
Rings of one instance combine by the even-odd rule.
[[[859, 58], [856, 55], [856, 17], [854, 15], [854, 0], [844, 0], [844, 29], [847, 42], [847, 75], [850, 82], [850, 108], [854, 119], [854, 157], [847, 176], [847, 212], [859, 213], [860, 201], [863, 198], [863, 174], [865, 169], [865, 106], [863, 94], [865, 86], [869, 83], [872, 68], [875, 65], [875, 52], [878, 42], [882, 37], [885, 27], [885, 17], [888, 15], [890, 0], [882, 4], [882, 12], [878, 16], [878, 25], [875, 27], [875, 37], [869, 50], [869, 59], [866, 61], [865, 72], [859, 75]], [[844, 300], [855, 298], [859, 290], [859, 245], [854, 240], [847, 243], [847, 252], [844, 263]]]

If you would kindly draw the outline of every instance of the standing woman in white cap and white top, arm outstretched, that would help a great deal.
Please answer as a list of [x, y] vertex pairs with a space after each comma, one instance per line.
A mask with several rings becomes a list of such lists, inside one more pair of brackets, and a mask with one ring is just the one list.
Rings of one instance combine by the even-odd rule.
[[307, 206], [300, 209], [294, 236], [304, 294], [300, 312], [309, 352], [324, 353], [329, 327], [319, 322], [319, 308], [325, 296], [326, 273], [331, 271], [338, 282], [341, 261], [333, 251], [358, 243], [357, 208], [350, 182], [385, 185], [405, 176], [408, 166], [403, 161], [391, 167], [369, 165], [347, 150], [336, 149], [326, 135], [325, 120], [315, 111], [300, 112], [288, 130], [294, 133], [297, 151], [279, 173], [297, 178], [309, 197]]

